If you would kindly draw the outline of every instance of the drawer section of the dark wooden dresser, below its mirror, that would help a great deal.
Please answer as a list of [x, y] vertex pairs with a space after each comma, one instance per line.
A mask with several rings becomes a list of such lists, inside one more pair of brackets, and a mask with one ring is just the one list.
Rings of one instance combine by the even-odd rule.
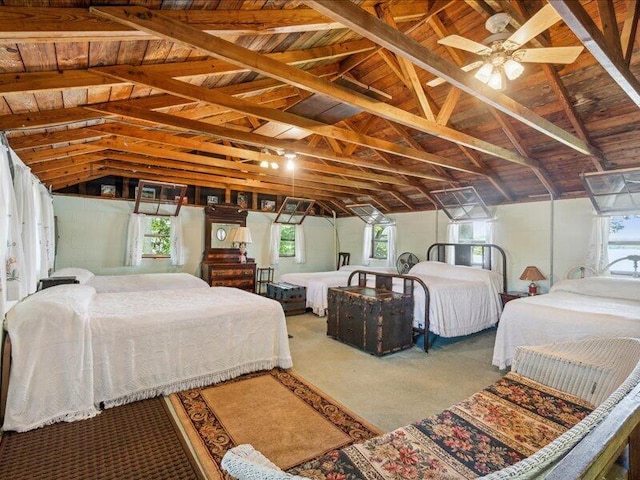
[[256, 290], [256, 264], [253, 259], [240, 263], [237, 248], [217, 248], [202, 262], [202, 278], [212, 287]]

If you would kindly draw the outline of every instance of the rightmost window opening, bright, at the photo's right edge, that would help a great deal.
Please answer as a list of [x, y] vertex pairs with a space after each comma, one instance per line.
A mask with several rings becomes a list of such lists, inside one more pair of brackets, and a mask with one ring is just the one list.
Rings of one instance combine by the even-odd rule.
[[[628, 255], [640, 255], [640, 215], [611, 217], [607, 253], [609, 263]], [[618, 262], [611, 267], [611, 273], [632, 275], [633, 262]]]

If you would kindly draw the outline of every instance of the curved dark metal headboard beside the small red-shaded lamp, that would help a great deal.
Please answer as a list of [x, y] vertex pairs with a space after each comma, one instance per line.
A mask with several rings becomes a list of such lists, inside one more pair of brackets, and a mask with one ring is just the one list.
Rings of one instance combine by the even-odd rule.
[[[481, 263], [473, 263], [474, 250], [480, 251]], [[507, 255], [493, 243], [434, 243], [427, 249], [427, 260], [497, 270], [502, 274], [503, 291], [507, 291]]]

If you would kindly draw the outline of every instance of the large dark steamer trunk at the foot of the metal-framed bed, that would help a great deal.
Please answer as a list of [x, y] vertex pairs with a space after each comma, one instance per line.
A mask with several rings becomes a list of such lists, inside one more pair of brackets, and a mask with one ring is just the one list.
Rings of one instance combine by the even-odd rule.
[[413, 345], [413, 296], [370, 287], [328, 291], [327, 335], [374, 355]]

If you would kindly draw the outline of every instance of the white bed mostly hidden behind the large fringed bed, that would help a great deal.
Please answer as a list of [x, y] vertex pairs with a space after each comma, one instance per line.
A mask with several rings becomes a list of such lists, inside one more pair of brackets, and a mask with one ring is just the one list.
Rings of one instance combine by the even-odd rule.
[[94, 275], [85, 268], [62, 268], [52, 277], [76, 277], [82, 285], [89, 285], [98, 293], [146, 292], [152, 290], [181, 290], [209, 288], [207, 282], [188, 273], [139, 273], [132, 275]]

